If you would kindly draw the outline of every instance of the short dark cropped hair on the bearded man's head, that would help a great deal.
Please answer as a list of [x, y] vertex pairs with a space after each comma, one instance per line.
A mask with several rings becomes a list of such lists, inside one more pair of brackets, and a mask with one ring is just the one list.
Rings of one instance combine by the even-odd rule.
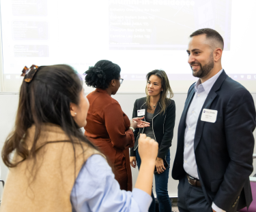
[[210, 29], [210, 28], [198, 29], [197, 31], [192, 33], [190, 35], [190, 37], [194, 37], [197, 35], [206, 35], [206, 38], [213, 39], [214, 41], [217, 41], [218, 43], [221, 44], [221, 49], [223, 50], [223, 48], [224, 48], [223, 37], [221, 37], [220, 33], [218, 33], [216, 30]]

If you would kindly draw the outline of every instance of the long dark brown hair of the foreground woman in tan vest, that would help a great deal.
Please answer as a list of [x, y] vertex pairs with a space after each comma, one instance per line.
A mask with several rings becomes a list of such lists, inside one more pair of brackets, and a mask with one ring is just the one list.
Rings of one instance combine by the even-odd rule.
[[[88, 143], [94, 147], [84, 136], [79, 126], [70, 114], [70, 103], [79, 105], [80, 93], [83, 84], [79, 75], [68, 65], [51, 65], [39, 67], [31, 82], [23, 81], [20, 87], [20, 99], [13, 132], [6, 139], [3, 149], [3, 162], [8, 167], [15, 167], [20, 162], [31, 157], [36, 162], [36, 143], [40, 137], [41, 127], [44, 123], [61, 126], [68, 135], [68, 141], [81, 144]], [[35, 124], [35, 137], [32, 148], [29, 150], [23, 142], [27, 129]], [[74, 141], [74, 139], [76, 141]], [[95, 147], [94, 147], [95, 148]], [[12, 162], [10, 155], [16, 151], [22, 160]]]

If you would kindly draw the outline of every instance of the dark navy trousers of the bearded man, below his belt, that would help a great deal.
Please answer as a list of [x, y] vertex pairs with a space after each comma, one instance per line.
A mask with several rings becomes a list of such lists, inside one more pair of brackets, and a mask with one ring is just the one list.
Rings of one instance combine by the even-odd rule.
[[205, 199], [202, 188], [190, 185], [186, 176], [180, 179], [177, 189], [180, 212], [212, 212], [212, 205]]

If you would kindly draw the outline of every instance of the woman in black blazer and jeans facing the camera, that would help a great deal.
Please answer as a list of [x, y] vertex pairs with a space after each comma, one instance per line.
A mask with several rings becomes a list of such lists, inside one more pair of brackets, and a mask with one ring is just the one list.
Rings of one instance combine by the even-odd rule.
[[[169, 168], [165, 168], [164, 161], [170, 164], [171, 140], [175, 123], [175, 103], [171, 98], [173, 92], [165, 71], [154, 70], [147, 73], [146, 97], [137, 99], [134, 103], [132, 118], [145, 117], [144, 121], [150, 122], [150, 126], [136, 128], [134, 130], [135, 145], [130, 148], [130, 165], [138, 168], [141, 158], [138, 152], [139, 134], [146, 134], [158, 142], [158, 156], [156, 158], [156, 196], [159, 202], [159, 211], [171, 211], [171, 201], [168, 195]], [[169, 98], [167, 94], [170, 94]], [[155, 198], [152, 191], [152, 204], [149, 212], [155, 211]]]

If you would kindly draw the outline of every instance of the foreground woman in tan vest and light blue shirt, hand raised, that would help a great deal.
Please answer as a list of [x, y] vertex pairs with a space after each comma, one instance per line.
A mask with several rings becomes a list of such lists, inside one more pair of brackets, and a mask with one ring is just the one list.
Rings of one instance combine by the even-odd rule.
[[143, 168], [132, 192], [120, 190], [104, 156], [81, 133], [89, 103], [72, 67], [23, 71], [15, 127], [2, 149], [10, 172], [0, 211], [146, 211], [158, 144], [141, 136]]

